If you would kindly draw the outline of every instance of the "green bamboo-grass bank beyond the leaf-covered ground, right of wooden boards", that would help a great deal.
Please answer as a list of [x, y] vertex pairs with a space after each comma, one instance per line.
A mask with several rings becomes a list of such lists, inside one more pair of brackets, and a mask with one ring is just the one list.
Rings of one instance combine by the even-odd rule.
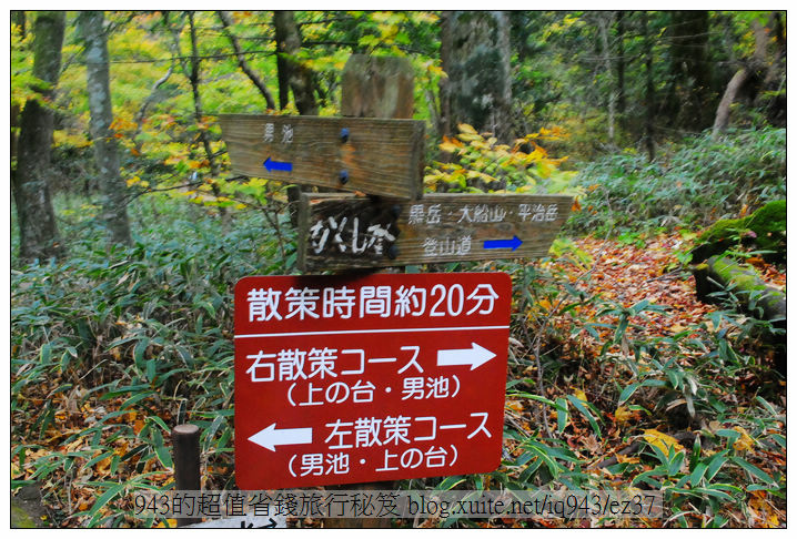
[[740, 131], [715, 141], [706, 133], [654, 162], [634, 151], [578, 172], [585, 189], [575, 230], [702, 226], [746, 205], [786, 193], [786, 131]]

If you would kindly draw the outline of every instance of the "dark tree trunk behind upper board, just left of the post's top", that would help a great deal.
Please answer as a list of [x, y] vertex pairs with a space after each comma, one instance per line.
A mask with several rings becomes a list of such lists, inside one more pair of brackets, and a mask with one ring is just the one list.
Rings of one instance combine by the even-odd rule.
[[293, 11], [274, 11], [276, 37], [278, 79], [280, 82], [280, 108], [287, 104], [287, 88], [293, 92], [296, 110], [303, 115], [315, 115], [319, 105], [313, 94], [313, 73], [296, 60], [302, 48], [302, 35]]

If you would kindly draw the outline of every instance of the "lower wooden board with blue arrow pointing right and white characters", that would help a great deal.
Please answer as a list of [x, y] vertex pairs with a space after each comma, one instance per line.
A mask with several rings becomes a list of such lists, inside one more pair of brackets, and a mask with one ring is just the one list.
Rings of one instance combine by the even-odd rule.
[[303, 194], [302, 271], [544, 256], [573, 205], [566, 195], [427, 194], [380, 201]]

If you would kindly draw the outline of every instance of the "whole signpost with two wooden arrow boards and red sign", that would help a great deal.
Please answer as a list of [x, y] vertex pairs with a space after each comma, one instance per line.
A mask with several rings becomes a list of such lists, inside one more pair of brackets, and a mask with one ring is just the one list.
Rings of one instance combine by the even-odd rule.
[[[342, 110], [351, 114], [412, 110], [404, 59], [352, 57], [343, 82]], [[424, 195], [423, 122], [393, 118], [220, 116], [235, 173], [356, 192], [302, 194], [303, 272], [547, 253], [571, 196]], [[245, 277], [235, 293], [236, 404], [245, 403], [235, 409], [239, 484], [287, 488], [494, 469], [510, 305], [506, 275]], [[435, 337], [441, 332], [445, 344]], [[494, 359], [488, 367], [478, 359], [480, 372], [468, 362], [485, 353]], [[480, 393], [484, 373], [494, 382], [491, 395]], [[425, 386], [435, 379], [443, 393]], [[441, 399], [454, 406], [444, 409]], [[490, 409], [471, 409], [487, 401]], [[376, 421], [393, 428], [400, 417], [410, 421], [401, 435], [375, 430]], [[355, 434], [363, 418], [372, 419], [367, 439]], [[434, 438], [423, 431], [431, 425]], [[437, 466], [443, 451], [448, 460]]]

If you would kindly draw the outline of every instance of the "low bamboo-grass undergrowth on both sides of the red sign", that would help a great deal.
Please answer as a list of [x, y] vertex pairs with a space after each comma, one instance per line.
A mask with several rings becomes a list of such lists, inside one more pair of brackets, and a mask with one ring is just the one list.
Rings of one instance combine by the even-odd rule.
[[[607, 157], [581, 173], [572, 226], [698, 225], [780, 197], [784, 136], [704, 136], [655, 163]], [[222, 218], [147, 195], [130, 206], [134, 244], [109, 250], [98, 207], [58, 204], [69, 257], [12, 263], [11, 487], [40, 485], [54, 526], [150, 527], [129, 495], [171, 487], [176, 424], [202, 430], [203, 487], [234, 486], [232, 289], [245, 275], [292, 273], [294, 243], [256, 212]], [[786, 417], [779, 380], [747, 345], [760, 322], [715, 309], [650, 330], [646, 317], [669, 327], [673, 313], [599, 292], [595, 262], [557, 241], [532, 263], [450, 265], [514, 279], [503, 464], [404, 486], [655, 489], [665, 520], [598, 525], [777, 526]]]

